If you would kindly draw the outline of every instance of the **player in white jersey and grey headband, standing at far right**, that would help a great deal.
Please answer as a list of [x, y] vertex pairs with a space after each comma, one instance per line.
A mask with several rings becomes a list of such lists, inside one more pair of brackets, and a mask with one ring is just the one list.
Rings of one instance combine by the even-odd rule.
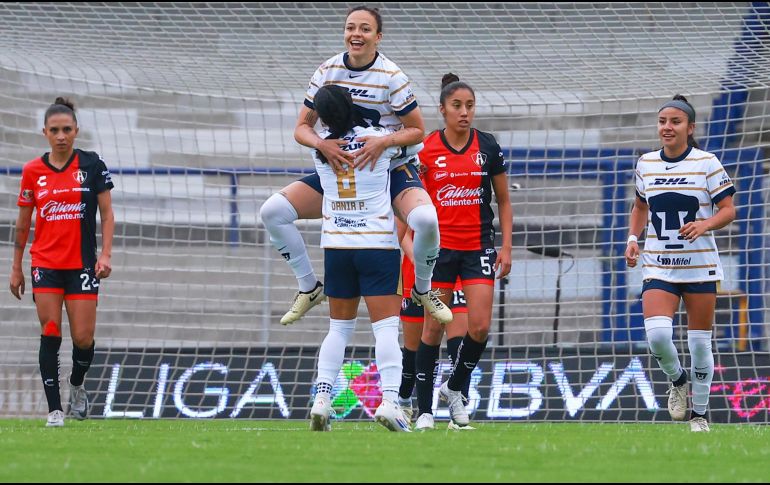
[[695, 109], [684, 96], [674, 96], [658, 111], [663, 148], [642, 155], [637, 163], [625, 256], [628, 266], [635, 267], [637, 240], [647, 226], [641, 252], [644, 328], [650, 352], [671, 380], [668, 411], [675, 421], [684, 421], [688, 409], [687, 371], [673, 342], [672, 323], [680, 298], [684, 300], [692, 360], [690, 429], [697, 432], [709, 431], [711, 329], [717, 283], [724, 278], [713, 231], [735, 219], [735, 188], [717, 157], [698, 148], [694, 130]]

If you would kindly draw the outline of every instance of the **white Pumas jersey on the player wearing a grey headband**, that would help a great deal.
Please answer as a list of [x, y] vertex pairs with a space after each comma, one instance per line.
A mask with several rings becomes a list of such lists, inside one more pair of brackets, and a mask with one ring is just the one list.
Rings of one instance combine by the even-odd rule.
[[670, 283], [723, 280], [714, 234], [690, 242], [679, 229], [714, 215], [714, 206], [735, 193], [730, 176], [717, 157], [697, 148], [677, 159], [662, 152], [646, 153], [636, 165], [636, 195], [649, 206], [643, 276]]

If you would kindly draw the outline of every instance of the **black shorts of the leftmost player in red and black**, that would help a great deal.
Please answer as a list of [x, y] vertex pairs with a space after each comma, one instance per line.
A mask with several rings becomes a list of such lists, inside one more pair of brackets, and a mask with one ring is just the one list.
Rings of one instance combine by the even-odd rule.
[[32, 268], [32, 296], [39, 293], [64, 295], [65, 300], [97, 300], [99, 280], [93, 268]]

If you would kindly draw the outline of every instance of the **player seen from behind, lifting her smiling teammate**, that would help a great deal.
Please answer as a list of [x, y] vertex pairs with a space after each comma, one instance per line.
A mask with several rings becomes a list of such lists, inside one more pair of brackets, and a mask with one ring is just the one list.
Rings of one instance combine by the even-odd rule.
[[[390, 133], [386, 128], [366, 126], [353, 107], [350, 93], [341, 86], [322, 87], [314, 102], [316, 112], [329, 127], [325, 139], [344, 141], [341, 146], [345, 151], [355, 153]], [[363, 138], [366, 143], [360, 141]], [[343, 171], [335, 170], [323, 153], [313, 153], [324, 189], [321, 247], [330, 314], [329, 333], [318, 355], [316, 397], [310, 412], [313, 431], [330, 429], [332, 388], [355, 330], [362, 296], [374, 330], [382, 387], [375, 420], [391, 431], [411, 431], [398, 405], [401, 251], [390, 205], [390, 162], [400, 151], [386, 148], [371, 170], [356, 170], [352, 163], [343, 163]]]

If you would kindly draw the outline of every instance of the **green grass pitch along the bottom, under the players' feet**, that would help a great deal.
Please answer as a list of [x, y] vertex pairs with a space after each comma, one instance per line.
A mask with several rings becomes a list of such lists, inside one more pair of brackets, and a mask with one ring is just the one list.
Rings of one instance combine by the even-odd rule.
[[770, 479], [770, 428], [480, 423], [475, 431], [389, 433], [341, 423], [0, 421], [3, 482], [478, 482]]

